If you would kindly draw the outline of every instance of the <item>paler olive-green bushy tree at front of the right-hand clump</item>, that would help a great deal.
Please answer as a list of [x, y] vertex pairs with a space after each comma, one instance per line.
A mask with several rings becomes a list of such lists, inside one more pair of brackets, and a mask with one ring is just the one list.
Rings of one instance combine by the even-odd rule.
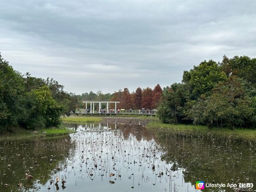
[[252, 114], [249, 99], [236, 76], [220, 82], [211, 96], [206, 100], [194, 101], [190, 107], [186, 112], [187, 117], [195, 124], [207, 124], [209, 128], [227, 126], [233, 129], [235, 126], [243, 126]]

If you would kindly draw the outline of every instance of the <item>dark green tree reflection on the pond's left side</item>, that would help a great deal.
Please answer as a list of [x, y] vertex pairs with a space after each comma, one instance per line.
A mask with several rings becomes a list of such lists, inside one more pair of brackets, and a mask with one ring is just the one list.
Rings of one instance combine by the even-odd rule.
[[[23, 190], [39, 190], [50, 179], [50, 175], [63, 169], [65, 159], [70, 157], [70, 152], [75, 148], [70, 137], [51, 140], [38, 138], [26, 142], [6, 141], [0, 143], [0, 146], [0, 180], [10, 185], [8, 188], [0, 186], [1, 192], [20, 191], [17, 187], [19, 182], [22, 183]], [[9, 164], [10, 169], [7, 167]], [[25, 179], [27, 170], [33, 176], [32, 180]]]

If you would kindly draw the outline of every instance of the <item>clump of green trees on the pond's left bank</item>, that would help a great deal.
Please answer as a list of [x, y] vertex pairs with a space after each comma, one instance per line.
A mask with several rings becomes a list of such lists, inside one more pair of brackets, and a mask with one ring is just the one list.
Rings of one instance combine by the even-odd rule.
[[0, 131], [58, 126], [77, 107], [76, 95], [57, 81], [20, 74], [0, 55]]

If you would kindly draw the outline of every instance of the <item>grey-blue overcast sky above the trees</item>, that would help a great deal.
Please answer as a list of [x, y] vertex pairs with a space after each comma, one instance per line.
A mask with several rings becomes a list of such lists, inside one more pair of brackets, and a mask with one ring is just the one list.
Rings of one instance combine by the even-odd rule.
[[256, 57], [256, 0], [1, 0], [0, 52], [65, 90], [166, 87], [225, 54]]

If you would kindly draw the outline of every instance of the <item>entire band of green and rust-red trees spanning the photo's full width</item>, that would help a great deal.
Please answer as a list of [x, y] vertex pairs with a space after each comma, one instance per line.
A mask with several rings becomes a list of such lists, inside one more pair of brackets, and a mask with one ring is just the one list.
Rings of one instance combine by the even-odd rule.
[[203, 61], [184, 71], [181, 83], [163, 90], [157, 84], [153, 90], [138, 87], [132, 93], [124, 88], [115, 93], [76, 95], [65, 92], [53, 79], [20, 74], [0, 55], [0, 130], [60, 125], [62, 115], [85, 108], [84, 100], [119, 101], [120, 109], [157, 108], [164, 123], [254, 128], [256, 58], [224, 55], [221, 63]]

